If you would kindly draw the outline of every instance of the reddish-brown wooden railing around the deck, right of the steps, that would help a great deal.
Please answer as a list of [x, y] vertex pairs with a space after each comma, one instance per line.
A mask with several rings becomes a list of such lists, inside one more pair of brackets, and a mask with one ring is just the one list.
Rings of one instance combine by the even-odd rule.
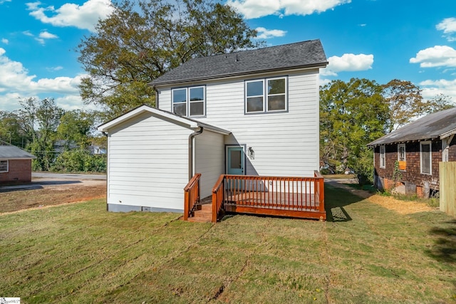
[[212, 189], [212, 221], [225, 211], [326, 219], [324, 179], [221, 175]]

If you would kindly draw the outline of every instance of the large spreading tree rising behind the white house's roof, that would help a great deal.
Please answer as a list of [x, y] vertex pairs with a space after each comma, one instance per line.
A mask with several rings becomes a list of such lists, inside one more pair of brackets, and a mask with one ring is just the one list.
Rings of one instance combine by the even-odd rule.
[[147, 85], [191, 58], [262, 45], [231, 6], [210, 0], [124, 0], [78, 46], [89, 76], [80, 85], [85, 103], [110, 116], [155, 104]]

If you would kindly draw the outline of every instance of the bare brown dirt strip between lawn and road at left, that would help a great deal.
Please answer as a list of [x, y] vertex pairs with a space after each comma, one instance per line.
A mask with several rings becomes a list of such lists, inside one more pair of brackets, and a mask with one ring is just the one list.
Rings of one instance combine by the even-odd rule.
[[0, 192], [0, 214], [106, 196], [105, 180], [34, 179], [30, 186], [28, 189], [7, 189]]

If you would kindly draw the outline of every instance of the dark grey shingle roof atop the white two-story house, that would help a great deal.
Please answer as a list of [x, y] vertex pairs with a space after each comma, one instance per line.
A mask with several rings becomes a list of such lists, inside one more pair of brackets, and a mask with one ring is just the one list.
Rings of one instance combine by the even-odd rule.
[[150, 85], [185, 83], [276, 70], [324, 68], [327, 64], [321, 41], [316, 39], [193, 58], [153, 80]]

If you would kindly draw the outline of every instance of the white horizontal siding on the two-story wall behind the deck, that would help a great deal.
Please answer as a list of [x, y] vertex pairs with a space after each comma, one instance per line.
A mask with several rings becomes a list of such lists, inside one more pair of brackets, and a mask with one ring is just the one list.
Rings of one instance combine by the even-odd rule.
[[[318, 69], [287, 73], [286, 79], [287, 112], [255, 115], [245, 115], [243, 79], [195, 83], [206, 85], [207, 95], [206, 116], [197, 120], [231, 131], [225, 145], [245, 145], [254, 150], [254, 159], [246, 159], [246, 174], [313, 177], [318, 170]], [[170, 104], [170, 89], [159, 88], [163, 110]]]

